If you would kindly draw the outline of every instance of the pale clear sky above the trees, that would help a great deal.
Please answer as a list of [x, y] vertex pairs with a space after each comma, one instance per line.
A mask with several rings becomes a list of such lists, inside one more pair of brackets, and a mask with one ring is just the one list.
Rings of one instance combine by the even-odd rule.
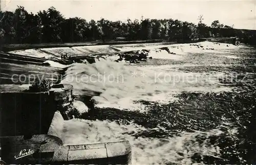
[[203, 22], [210, 25], [219, 20], [224, 25], [237, 29], [256, 30], [256, 0], [254, 1], [86, 1], [86, 0], [0, 0], [1, 10], [14, 11], [24, 6], [28, 12], [37, 13], [55, 7], [66, 18], [81, 17], [86, 20], [132, 20], [144, 18], [172, 18], [198, 23], [198, 16], [203, 15]]

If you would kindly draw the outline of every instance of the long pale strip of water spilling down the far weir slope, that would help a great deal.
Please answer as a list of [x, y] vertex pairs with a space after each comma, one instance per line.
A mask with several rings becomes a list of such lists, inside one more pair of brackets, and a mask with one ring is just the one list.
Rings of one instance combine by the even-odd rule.
[[[199, 45], [203, 47], [201, 48]], [[204, 52], [214, 51], [214, 50], [206, 50], [206, 48], [211, 48], [215, 50], [227, 50], [227, 49], [239, 48], [238, 46], [234, 46], [232, 44], [204, 41], [204, 42], [195, 43], [194, 45], [190, 45], [188, 43], [187, 44], [167, 44], [167, 45], [163, 45], [163, 43], [90, 45], [90, 46], [73, 46], [73, 47], [62, 47], [62, 48], [18, 50], [18, 51], [11, 51], [10, 53], [49, 59], [49, 58], [59, 58], [61, 55], [66, 53], [70, 56], [74, 56], [74, 55], [90, 55], [90, 54], [96, 54], [96, 53], [109, 53], [109, 52], [118, 52], [118, 51], [142, 50], [142, 49], [156, 50], [162, 47], [168, 47], [170, 49], [170, 52], [174, 52], [178, 55], [185, 55], [188, 52], [204, 53]], [[164, 52], [164, 51], [161, 51], [161, 52]], [[164, 57], [161, 57], [161, 58], [164, 58]]]

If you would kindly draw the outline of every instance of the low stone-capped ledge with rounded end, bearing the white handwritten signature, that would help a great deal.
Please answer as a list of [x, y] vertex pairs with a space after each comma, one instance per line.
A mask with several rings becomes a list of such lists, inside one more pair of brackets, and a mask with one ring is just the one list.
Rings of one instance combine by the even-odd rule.
[[[63, 146], [61, 139], [50, 135], [33, 135], [27, 140], [24, 140], [23, 136], [2, 137], [0, 140], [1, 157], [8, 164], [131, 163], [131, 147], [128, 141]], [[20, 151], [29, 153], [20, 154]], [[18, 155], [20, 158], [15, 159]]]

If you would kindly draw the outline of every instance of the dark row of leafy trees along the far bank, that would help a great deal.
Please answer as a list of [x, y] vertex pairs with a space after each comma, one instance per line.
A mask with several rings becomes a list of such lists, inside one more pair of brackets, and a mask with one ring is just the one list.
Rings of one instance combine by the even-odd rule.
[[[254, 33], [253, 33], [254, 35]], [[85, 41], [153, 40], [188, 42], [205, 37], [247, 37], [242, 31], [221, 24], [218, 20], [207, 26], [202, 16], [195, 23], [173, 19], [132, 21], [98, 21], [82, 18], [66, 19], [54, 7], [37, 14], [18, 6], [15, 12], [0, 11], [0, 42], [3, 43], [65, 43]], [[254, 35], [255, 36], [255, 35]]]

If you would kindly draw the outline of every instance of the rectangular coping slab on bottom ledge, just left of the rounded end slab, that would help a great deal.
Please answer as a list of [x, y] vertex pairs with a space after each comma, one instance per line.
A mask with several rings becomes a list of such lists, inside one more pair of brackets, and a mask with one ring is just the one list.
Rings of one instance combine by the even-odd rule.
[[68, 155], [69, 161], [99, 158], [107, 158], [105, 148], [69, 151]]

